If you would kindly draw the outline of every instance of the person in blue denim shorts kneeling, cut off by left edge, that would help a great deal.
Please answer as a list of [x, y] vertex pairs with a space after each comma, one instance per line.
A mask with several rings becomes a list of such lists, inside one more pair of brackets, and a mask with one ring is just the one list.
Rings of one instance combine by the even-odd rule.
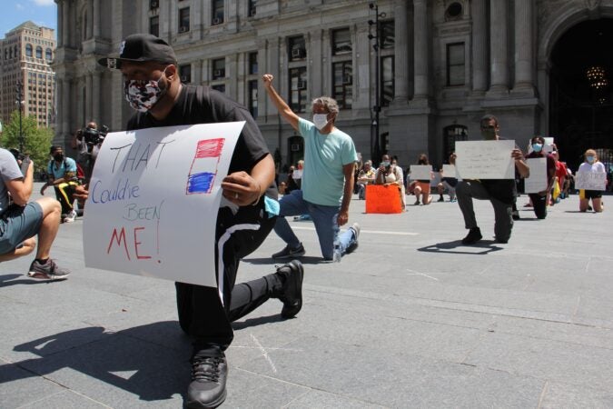
[[59, 202], [51, 197], [29, 202], [34, 188], [34, 163], [18, 151], [0, 148], [0, 176], [0, 262], [32, 253], [38, 235], [36, 258], [27, 275], [65, 280], [70, 272], [58, 267], [50, 257], [60, 224]]

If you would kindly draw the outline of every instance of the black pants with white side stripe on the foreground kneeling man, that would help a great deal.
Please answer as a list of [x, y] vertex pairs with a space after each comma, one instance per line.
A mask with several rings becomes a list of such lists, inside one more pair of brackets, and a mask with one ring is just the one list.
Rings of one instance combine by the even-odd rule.
[[262, 244], [275, 220], [268, 218], [263, 200], [256, 206], [241, 207], [237, 214], [227, 207], [219, 210], [215, 234], [218, 288], [175, 284], [179, 321], [193, 335], [195, 351], [211, 346], [226, 349], [232, 343], [232, 321], [251, 313], [281, 288], [276, 274], [234, 285], [240, 260]]

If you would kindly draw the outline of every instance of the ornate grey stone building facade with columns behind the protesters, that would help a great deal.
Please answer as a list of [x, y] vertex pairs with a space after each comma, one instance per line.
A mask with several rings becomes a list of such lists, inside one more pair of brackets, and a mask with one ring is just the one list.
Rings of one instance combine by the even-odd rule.
[[59, 140], [89, 120], [123, 129], [122, 76], [96, 60], [151, 32], [173, 45], [184, 82], [247, 106], [283, 164], [301, 158], [302, 140], [258, 92], [264, 73], [305, 117], [311, 98], [336, 97], [337, 125], [364, 158], [379, 100], [383, 150], [403, 166], [422, 152], [440, 164], [455, 141], [480, 138], [485, 114], [520, 144], [549, 135], [554, 46], [574, 25], [613, 17], [613, 0], [55, 2]]

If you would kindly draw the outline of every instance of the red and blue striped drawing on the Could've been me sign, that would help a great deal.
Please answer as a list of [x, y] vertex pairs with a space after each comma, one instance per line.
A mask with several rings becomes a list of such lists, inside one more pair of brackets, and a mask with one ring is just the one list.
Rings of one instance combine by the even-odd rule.
[[198, 141], [190, 174], [187, 176], [186, 195], [209, 194], [217, 175], [224, 138]]

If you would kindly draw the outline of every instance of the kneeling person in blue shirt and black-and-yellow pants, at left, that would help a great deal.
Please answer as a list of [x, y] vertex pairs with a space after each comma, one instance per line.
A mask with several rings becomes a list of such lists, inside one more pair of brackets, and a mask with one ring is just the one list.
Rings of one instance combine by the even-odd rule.
[[76, 177], [76, 162], [64, 156], [62, 146], [51, 146], [49, 155], [53, 157], [47, 165], [47, 183], [41, 187], [41, 195], [49, 186], [54, 186], [55, 197], [62, 205], [62, 223], [74, 222], [74, 190], [79, 185]]

